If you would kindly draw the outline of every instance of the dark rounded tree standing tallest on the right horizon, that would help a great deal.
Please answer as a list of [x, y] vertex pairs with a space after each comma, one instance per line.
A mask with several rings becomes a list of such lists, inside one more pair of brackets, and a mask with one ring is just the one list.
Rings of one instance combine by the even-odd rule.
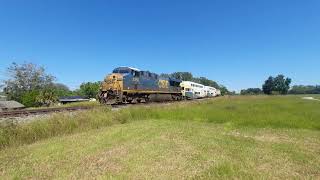
[[270, 76], [262, 85], [262, 89], [265, 94], [288, 94], [290, 84], [291, 79], [280, 74], [275, 78]]

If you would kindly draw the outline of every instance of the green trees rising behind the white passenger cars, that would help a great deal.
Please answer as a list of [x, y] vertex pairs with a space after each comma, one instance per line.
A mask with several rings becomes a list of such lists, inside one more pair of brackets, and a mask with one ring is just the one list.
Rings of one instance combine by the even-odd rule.
[[180, 79], [182, 81], [193, 81], [199, 84], [203, 84], [205, 86], [211, 86], [216, 89], [220, 89], [221, 94], [232, 94], [233, 92], [230, 92], [225, 86], [218, 84], [216, 81], [210, 80], [206, 77], [194, 77], [191, 72], [174, 72], [171, 74], [161, 74], [161, 77], [166, 77], [166, 78], [175, 78], [175, 79]]

